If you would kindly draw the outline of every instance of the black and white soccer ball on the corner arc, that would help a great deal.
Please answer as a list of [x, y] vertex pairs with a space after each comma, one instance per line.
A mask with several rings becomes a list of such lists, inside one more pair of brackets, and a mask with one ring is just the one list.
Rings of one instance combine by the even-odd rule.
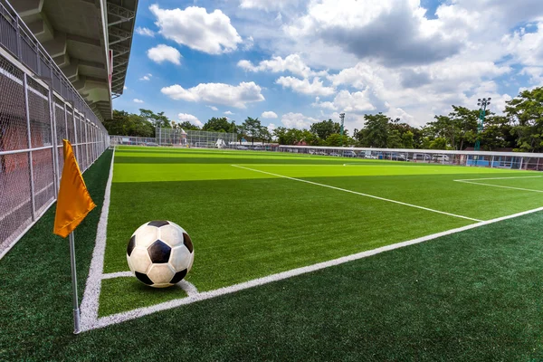
[[127, 261], [130, 271], [154, 288], [166, 288], [185, 278], [195, 260], [188, 233], [171, 221], [151, 221], [130, 237]]

